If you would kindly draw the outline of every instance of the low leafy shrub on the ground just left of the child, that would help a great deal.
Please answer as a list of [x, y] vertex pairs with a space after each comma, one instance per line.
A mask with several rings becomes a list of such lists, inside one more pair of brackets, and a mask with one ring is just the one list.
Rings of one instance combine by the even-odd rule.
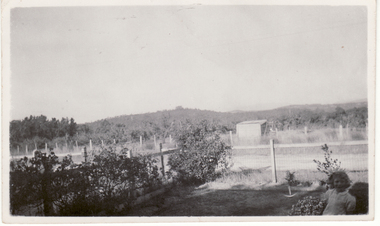
[[317, 197], [306, 196], [292, 205], [290, 216], [322, 215], [326, 203]]

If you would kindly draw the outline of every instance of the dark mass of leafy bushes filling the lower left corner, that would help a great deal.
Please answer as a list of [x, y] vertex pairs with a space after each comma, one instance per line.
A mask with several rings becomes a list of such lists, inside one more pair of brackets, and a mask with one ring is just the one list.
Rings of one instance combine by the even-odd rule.
[[41, 207], [43, 215], [96, 216], [117, 214], [120, 204], [136, 198], [136, 189], [154, 189], [161, 184], [156, 160], [151, 156], [127, 157], [112, 147], [103, 148], [92, 162], [75, 164], [70, 156], [23, 158], [11, 162], [11, 213]]

